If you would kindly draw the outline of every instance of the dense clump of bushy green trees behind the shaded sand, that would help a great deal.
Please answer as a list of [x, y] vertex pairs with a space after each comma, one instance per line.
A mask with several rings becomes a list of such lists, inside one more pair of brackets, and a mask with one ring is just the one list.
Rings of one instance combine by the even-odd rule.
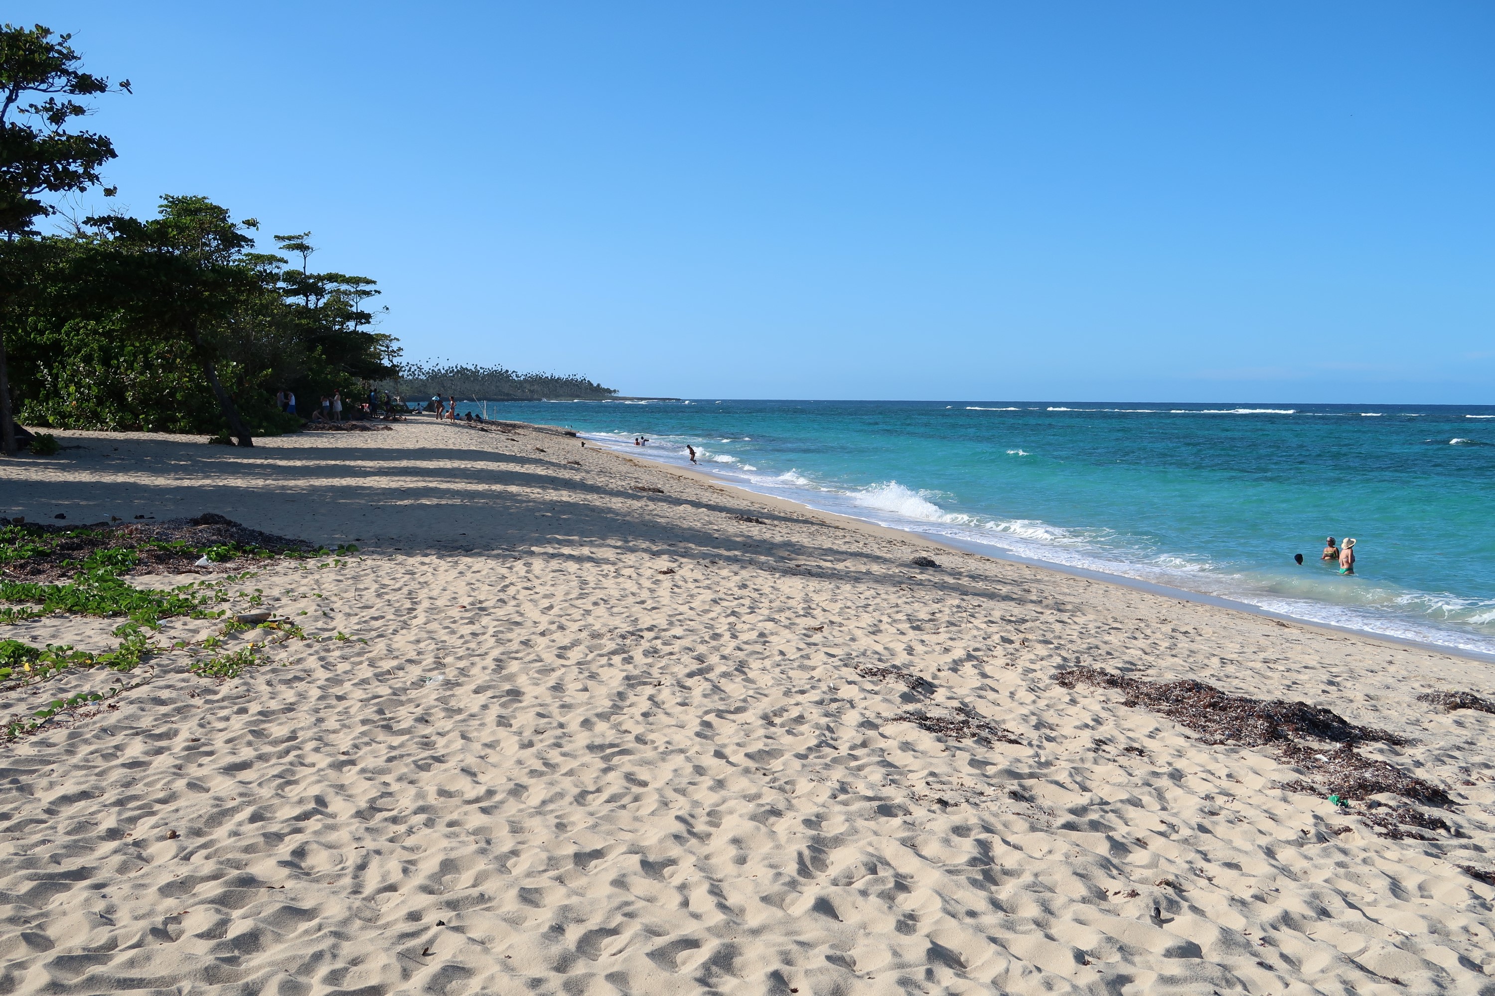
[[395, 373], [393, 339], [360, 306], [374, 281], [254, 252], [253, 227], [203, 197], [163, 197], [155, 218], [24, 239], [31, 281], [7, 330], [19, 421], [239, 436], [236, 415], [271, 435], [300, 426], [280, 390], [308, 412]]

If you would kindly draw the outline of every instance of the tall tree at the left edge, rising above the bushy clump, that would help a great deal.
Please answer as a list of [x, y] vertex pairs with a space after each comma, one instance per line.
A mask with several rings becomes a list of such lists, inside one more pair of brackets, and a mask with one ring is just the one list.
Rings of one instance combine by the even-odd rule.
[[[99, 169], [115, 157], [114, 143], [93, 131], [70, 131], [88, 113], [76, 97], [109, 91], [109, 81], [82, 72], [70, 34], [40, 24], [0, 27], [0, 449], [15, 455], [15, 423], [4, 339], [24, 312], [18, 297], [30, 284], [34, 254], [24, 242], [37, 218], [57, 211], [46, 194], [81, 193], [100, 182]], [[129, 93], [130, 82], [120, 84]], [[105, 194], [114, 194], [105, 188]]]

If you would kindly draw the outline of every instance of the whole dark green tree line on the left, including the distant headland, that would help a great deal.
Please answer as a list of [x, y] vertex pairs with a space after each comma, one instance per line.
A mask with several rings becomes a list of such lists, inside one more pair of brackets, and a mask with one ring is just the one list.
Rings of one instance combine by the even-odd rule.
[[[67, 217], [115, 158], [78, 127], [91, 99], [130, 93], [87, 73], [70, 36], [0, 28], [0, 448], [15, 426], [209, 433], [241, 446], [300, 429], [323, 396], [607, 397], [583, 378], [502, 367], [402, 367], [374, 278], [318, 270], [309, 231], [265, 239], [208, 197], [152, 217]], [[49, 230], [40, 224], [51, 220]], [[60, 224], [58, 224], [60, 222]], [[271, 249], [271, 251], [265, 251]], [[277, 394], [298, 397], [293, 415]], [[350, 403], [351, 408], [351, 403]]]

